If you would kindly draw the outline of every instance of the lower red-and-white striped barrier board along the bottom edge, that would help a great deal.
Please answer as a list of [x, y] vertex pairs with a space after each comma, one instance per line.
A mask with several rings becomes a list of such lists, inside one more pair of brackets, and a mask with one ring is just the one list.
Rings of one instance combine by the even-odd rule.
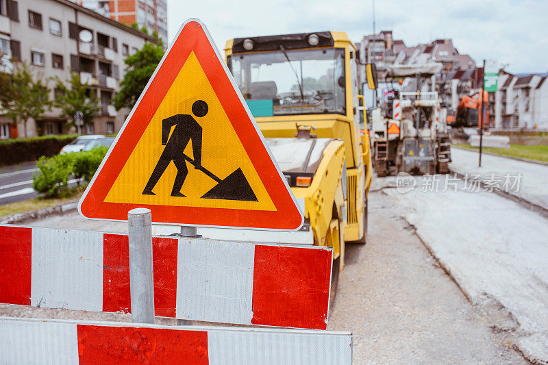
[[351, 364], [348, 332], [0, 317], [0, 364]]

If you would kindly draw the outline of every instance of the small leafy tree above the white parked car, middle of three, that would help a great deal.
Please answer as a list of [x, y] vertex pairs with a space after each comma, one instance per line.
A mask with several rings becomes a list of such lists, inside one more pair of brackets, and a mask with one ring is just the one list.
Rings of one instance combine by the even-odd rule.
[[60, 90], [60, 94], [55, 97], [53, 105], [61, 109], [61, 116], [71, 118], [69, 127], [75, 125], [74, 114], [76, 112], [82, 112], [84, 123], [90, 123], [101, 110], [97, 94], [90, 92], [85, 85], [82, 85], [79, 73], [71, 73], [71, 78], [66, 81], [69, 82], [70, 88], [57, 79], [55, 88]]

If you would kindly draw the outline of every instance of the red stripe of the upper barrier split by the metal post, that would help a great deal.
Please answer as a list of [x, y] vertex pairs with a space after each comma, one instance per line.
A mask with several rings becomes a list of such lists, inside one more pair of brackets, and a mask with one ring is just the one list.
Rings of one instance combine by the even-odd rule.
[[[156, 316], [175, 317], [177, 239], [152, 238]], [[121, 234], [103, 235], [103, 312], [131, 312], [129, 242]]]

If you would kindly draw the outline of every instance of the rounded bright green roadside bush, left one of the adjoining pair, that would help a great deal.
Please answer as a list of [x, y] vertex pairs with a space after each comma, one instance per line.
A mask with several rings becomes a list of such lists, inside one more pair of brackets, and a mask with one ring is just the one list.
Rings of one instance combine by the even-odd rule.
[[52, 158], [42, 156], [36, 163], [38, 172], [34, 173], [32, 188], [45, 197], [61, 197], [69, 191], [69, 179], [73, 174], [74, 155], [56, 155]]

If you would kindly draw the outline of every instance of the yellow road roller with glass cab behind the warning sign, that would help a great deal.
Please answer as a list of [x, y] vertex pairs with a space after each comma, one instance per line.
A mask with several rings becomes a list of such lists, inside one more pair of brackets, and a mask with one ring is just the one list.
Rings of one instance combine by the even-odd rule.
[[314, 32], [235, 38], [225, 55], [303, 201], [308, 243], [334, 247], [343, 268], [345, 242], [366, 240], [372, 174], [369, 138], [360, 132], [356, 47], [343, 32]]

